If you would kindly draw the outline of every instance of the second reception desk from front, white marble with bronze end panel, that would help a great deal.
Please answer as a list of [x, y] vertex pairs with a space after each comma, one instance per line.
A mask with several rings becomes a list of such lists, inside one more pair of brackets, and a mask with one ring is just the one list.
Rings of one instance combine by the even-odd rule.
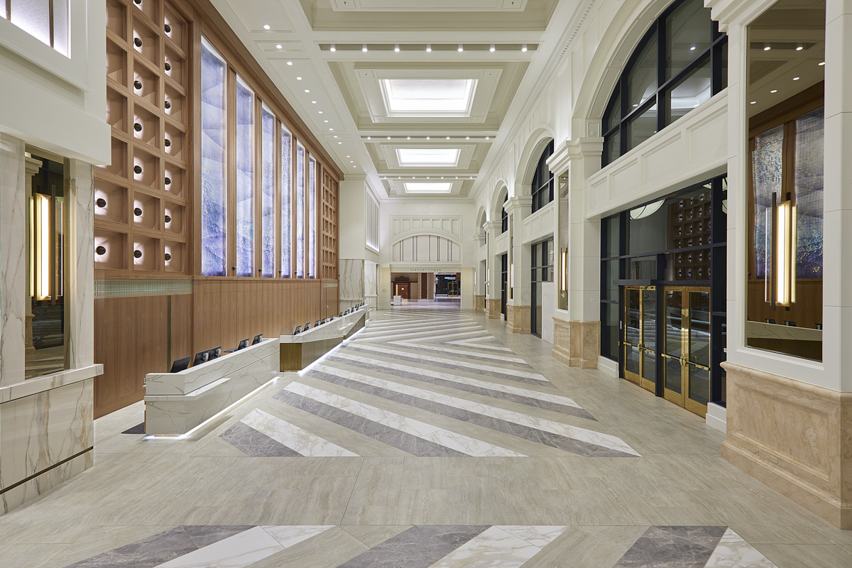
[[363, 328], [369, 313], [370, 306], [362, 306], [352, 313], [302, 331], [296, 336], [281, 336], [279, 369], [282, 372], [294, 372], [314, 363]]

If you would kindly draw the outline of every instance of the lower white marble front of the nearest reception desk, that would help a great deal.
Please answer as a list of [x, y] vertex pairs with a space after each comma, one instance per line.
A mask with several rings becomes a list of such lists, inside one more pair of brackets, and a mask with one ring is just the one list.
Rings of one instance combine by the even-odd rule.
[[278, 340], [264, 341], [264, 347], [267, 346], [274, 346], [274, 349], [263, 359], [234, 370], [192, 393], [146, 396], [145, 433], [172, 436], [187, 433], [271, 381], [279, 367]]

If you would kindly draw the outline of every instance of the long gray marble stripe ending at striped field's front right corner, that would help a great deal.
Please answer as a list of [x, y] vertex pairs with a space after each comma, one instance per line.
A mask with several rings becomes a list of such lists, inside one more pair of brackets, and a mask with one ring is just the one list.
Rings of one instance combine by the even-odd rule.
[[493, 418], [492, 416], [484, 416], [475, 412], [471, 412], [469, 410], [456, 408], [455, 406], [440, 404], [432, 400], [419, 399], [411, 394], [397, 393], [387, 388], [375, 387], [373, 385], [353, 381], [342, 376], [328, 375], [326, 373], [321, 373], [316, 370], [312, 370], [308, 374], [308, 376], [315, 379], [320, 379], [321, 381], [331, 382], [333, 384], [340, 385], [341, 387], [351, 388], [353, 390], [360, 391], [361, 393], [372, 394], [374, 396], [381, 397], [386, 400], [392, 400], [401, 404], [407, 404], [409, 406], [413, 406], [414, 408], [419, 408], [421, 410], [428, 410], [429, 412], [434, 412], [435, 414], [440, 414], [441, 416], [447, 416], [449, 418], [454, 418], [462, 422], [468, 422], [477, 426], [486, 427], [491, 430], [496, 430], [500, 433], [509, 434], [511, 436], [517, 436], [518, 438], [527, 439], [537, 444], [549, 445], [550, 447], [557, 448], [559, 450], [569, 451], [573, 454], [578, 454], [579, 456], [636, 457], [632, 454], [625, 454], [624, 452], [613, 450], [602, 445], [590, 444], [589, 442], [582, 442], [577, 439], [566, 438], [565, 436], [560, 436], [555, 433], [544, 432], [544, 430], [538, 430], [537, 428], [523, 426], [521, 424], [515, 424], [515, 422], [500, 420], [499, 418]]

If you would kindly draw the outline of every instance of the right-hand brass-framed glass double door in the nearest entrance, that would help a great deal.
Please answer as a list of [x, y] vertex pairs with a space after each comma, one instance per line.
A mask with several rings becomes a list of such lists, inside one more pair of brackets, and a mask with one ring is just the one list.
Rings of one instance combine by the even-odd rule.
[[666, 287], [663, 296], [663, 396], [705, 416], [710, 399], [710, 289]]

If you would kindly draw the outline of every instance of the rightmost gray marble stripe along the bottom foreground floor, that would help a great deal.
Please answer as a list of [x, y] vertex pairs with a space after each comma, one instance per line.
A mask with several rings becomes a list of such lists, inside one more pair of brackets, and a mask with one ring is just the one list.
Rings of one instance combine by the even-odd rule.
[[725, 526], [652, 526], [613, 568], [704, 568]]

